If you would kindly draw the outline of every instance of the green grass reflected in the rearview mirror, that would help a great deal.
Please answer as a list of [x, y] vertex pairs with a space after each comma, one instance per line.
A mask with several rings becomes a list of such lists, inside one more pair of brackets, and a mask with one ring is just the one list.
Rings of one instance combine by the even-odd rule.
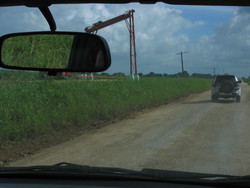
[[72, 41], [70, 35], [16, 36], [4, 41], [2, 61], [9, 66], [66, 68]]

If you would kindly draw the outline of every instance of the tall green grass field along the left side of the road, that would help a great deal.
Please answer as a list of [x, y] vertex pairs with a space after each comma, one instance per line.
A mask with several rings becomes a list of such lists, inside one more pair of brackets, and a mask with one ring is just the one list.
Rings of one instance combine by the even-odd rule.
[[211, 80], [194, 78], [5, 81], [0, 85], [0, 142], [84, 129], [210, 87]]

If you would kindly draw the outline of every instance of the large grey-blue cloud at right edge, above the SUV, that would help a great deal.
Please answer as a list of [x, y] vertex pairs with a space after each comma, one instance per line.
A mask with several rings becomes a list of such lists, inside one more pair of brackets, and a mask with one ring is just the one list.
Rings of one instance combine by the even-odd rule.
[[217, 28], [214, 36], [207, 39], [209, 53], [214, 56], [216, 63], [232, 73], [234, 69], [241, 68], [242, 74], [250, 75], [249, 23], [249, 8], [239, 8], [228, 22]]

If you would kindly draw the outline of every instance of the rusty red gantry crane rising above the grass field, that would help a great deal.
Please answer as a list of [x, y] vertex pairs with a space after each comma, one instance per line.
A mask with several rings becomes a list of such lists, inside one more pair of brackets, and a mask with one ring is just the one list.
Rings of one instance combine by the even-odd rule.
[[117, 22], [125, 20], [130, 38], [130, 76], [138, 78], [137, 61], [136, 61], [136, 46], [135, 46], [135, 27], [134, 27], [134, 12], [135, 10], [126, 11], [124, 14], [107, 21], [99, 21], [90, 27], [85, 28], [85, 32], [97, 34], [99, 29], [110, 26]]

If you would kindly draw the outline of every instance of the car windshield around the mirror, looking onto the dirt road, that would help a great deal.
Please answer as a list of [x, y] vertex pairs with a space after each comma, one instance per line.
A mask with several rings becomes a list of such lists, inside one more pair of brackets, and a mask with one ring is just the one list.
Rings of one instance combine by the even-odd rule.
[[[0, 9], [1, 35], [49, 31], [39, 9]], [[70, 162], [250, 174], [248, 7], [131, 3], [50, 10], [57, 31], [85, 32], [129, 11], [133, 17], [94, 31], [110, 47], [105, 72], [0, 70], [0, 166]], [[41, 52], [37, 60], [49, 55]], [[242, 80], [240, 87], [212, 89], [215, 76], [224, 74]]]

